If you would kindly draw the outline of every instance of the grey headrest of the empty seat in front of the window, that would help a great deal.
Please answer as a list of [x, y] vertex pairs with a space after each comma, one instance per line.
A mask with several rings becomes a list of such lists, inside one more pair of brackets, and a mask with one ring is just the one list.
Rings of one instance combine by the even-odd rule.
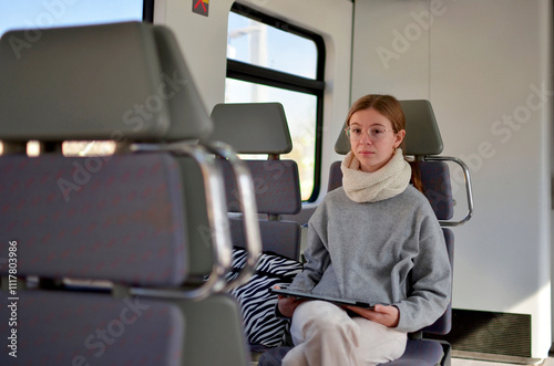
[[226, 143], [239, 154], [288, 154], [293, 140], [280, 103], [217, 104], [212, 111], [211, 140]]

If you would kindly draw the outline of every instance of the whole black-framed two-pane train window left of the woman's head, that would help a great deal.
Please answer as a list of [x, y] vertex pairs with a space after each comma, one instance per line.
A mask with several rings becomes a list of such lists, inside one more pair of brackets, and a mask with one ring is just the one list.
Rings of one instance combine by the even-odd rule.
[[293, 138], [302, 200], [320, 186], [325, 45], [320, 35], [234, 3], [229, 13], [226, 103], [280, 102]]

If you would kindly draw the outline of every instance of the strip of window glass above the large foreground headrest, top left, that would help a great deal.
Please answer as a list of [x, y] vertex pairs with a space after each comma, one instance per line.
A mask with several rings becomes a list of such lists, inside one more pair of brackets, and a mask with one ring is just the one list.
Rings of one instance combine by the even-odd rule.
[[143, 19], [143, 0], [0, 0], [0, 35], [43, 29]]

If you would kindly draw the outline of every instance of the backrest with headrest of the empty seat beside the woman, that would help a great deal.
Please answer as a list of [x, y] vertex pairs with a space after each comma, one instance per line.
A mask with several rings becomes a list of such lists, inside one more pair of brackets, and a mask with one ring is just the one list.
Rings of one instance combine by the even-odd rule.
[[[266, 216], [259, 220], [263, 250], [299, 259], [300, 228], [297, 222], [280, 218], [301, 210], [298, 166], [294, 160], [279, 158], [293, 149], [283, 106], [279, 103], [218, 104], [212, 119], [216, 128], [211, 139], [229, 144], [238, 154], [268, 155], [267, 160], [245, 160], [255, 182], [257, 211]], [[227, 182], [227, 205], [232, 212], [239, 212], [236, 186], [223, 161], [222, 166]], [[234, 245], [242, 248], [245, 240], [240, 221], [232, 220], [232, 236]]]

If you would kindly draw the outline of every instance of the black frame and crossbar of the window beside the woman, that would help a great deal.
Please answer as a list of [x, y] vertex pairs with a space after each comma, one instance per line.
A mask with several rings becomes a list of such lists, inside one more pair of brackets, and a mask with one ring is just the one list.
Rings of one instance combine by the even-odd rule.
[[[152, 0], [153, 1], [153, 0]], [[293, 92], [300, 92], [316, 96], [316, 142], [314, 157], [314, 189], [307, 202], [315, 202], [321, 190], [321, 146], [324, 130], [324, 95], [325, 95], [325, 41], [315, 32], [305, 30], [285, 20], [268, 15], [247, 6], [234, 2], [232, 12], [256, 20], [281, 31], [308, 39], [316, 44], [317, 65], [316, 79], [302, 77], [283, 71], [261, 67], [258, 65], [227, 59], [227, 77], [243, 82], [278, 87]]]

